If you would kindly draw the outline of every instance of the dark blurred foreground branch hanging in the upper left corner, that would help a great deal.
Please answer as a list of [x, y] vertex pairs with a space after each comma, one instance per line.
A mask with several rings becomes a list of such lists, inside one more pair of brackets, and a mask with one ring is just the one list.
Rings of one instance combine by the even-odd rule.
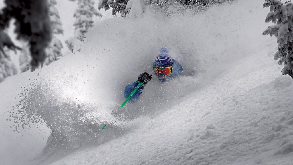
[[[51, 41], [50, 20], [47, 0], [5, 0], [6, 7], [0, 13], [0, 31], [9, 26], [15, 18], [18, 39], [24, 39], [30, 44], [33, 68], [44, 62], [45, 48]], [[3, 40], [3, 36], [0, 36]], [[0, 44], [0, 50], [3, 50]]]

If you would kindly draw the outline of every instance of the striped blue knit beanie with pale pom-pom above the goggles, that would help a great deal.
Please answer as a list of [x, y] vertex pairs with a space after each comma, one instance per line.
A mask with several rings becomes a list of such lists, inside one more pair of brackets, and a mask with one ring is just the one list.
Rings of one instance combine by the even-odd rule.
[[160, 53], [156, 56], [153, 66], [166, 67], [173, 64], [172, 57], [168, 54], [169, 50], [163, 46], [160, 50]]

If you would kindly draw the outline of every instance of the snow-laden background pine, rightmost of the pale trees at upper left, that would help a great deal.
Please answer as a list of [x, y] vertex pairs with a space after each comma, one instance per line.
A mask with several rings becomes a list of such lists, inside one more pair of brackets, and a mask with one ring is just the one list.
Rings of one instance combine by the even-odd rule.
[[89, 27], [93, 26], [93, 15], [102, 17], [93, 5], [93, 0], [78, 0], [78, 7], [74, 11], [73, 17], [76, 18], [73, 26], [75, 26], [74, 37], [80, 41], [84, 41], [85, 33]]

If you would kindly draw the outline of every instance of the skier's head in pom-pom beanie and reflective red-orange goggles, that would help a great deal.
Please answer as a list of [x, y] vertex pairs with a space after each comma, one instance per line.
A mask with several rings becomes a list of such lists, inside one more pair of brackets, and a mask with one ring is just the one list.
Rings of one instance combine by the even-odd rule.
[[168, 76], [172, 72], [173, 60], [168, 54], [169, 50], [163, 46], [160, 50], [160, 53], [156, 56], [156, 59], [153, 63], [154, 72], [157, 75]]

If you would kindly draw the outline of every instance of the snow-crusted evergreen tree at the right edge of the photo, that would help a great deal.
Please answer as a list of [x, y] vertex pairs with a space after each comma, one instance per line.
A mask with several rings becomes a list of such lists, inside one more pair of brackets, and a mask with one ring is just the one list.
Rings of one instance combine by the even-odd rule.
[[279, 65], [285, 64], [282, 75], [290, 75], [293, 78], [293, 3], [289, 1], [283, 4], [280, 0], [265, 0], [263, 7], [270, 7], [265, 22], [277, 23], [263, 31], [263, 35], [277, 37], [279, 46], [274, 59], [280, 59]]

